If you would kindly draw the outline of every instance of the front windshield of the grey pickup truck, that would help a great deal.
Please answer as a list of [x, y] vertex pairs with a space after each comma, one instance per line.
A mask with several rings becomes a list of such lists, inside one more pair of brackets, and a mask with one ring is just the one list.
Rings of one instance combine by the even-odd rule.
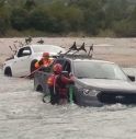
[[77, 78], [127, 80], [125, 73], [115, 63], [101, 61], [73, 61]]

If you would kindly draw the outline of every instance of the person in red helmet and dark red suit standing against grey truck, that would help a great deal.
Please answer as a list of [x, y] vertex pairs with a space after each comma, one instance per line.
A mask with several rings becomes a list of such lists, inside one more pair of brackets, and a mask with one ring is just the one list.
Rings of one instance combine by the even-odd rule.
[[63, 74], [63, 67], [60, 63], [56, 63], [53, 67], [54, 73], [48, 78], [47, 84], [50, 91], [52, 104], [66, 104], [68, 102], [68, 89], [69, 83], [73, 83], [73, 77], [66, 77]]

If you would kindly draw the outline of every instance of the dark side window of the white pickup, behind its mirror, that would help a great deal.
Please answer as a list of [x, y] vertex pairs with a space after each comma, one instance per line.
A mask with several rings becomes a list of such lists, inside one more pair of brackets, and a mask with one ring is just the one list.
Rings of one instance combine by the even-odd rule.
[[31, 54], [32, 54], [31, 48], [30, 47], [24, 47], [24, 48], [21, 48], [19, 50], [18, 57], [24, 57], [24, 56], [29, 56]]

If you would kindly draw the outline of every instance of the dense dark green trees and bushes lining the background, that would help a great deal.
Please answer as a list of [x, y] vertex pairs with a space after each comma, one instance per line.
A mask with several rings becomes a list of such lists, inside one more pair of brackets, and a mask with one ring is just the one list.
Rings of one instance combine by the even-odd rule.
[[42, 34], [136, 36], [135, 4], [136, 2], [132, 0], [131, 2], [129, 0], [0, 0], [0, 35], [16, 30], [22, 33], [43, 32]]

